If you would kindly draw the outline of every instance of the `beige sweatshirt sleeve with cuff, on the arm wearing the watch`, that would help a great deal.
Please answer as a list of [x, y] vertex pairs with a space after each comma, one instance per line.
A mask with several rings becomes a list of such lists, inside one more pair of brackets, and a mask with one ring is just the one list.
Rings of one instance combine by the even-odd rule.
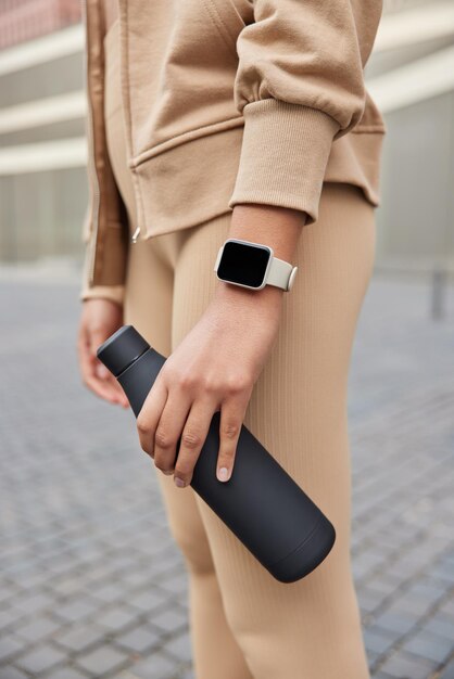
[[244, 116], [229, 207], [264, 203], [316, 221], [332, 141], [361, 120], [381, 0], [253, 0], [237, 41]]

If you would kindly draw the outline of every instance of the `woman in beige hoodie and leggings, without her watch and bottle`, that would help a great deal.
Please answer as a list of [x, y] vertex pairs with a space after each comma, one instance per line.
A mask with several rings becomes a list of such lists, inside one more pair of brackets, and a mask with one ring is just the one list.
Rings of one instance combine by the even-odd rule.
[[[366, 679], [346, 383], [375, 255], [384, 127], [363, 69], [381, 2], [86, 4], [80, 369], [127, 407], [97, 347], [131, 323], [168, 357], [137, 426], [188, 566], [196, 676]], [[229, 238], [298, 266], [291, 290], [219, 280]], [[275, 580], [189, 485], [216, 410], [222, 483], [244, 423], [333, 523], [302, 580]]]

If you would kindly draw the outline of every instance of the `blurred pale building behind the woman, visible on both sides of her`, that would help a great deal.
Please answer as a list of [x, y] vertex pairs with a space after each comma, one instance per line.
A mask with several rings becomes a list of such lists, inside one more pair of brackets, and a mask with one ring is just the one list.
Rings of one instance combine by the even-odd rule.
[[[2, 260], [81, 256], [83, 49], [79, 0], [0, 0]], [[384, 0], [366, 78], [388, 127], [377, 265], [452, 264], [454, 2]]]

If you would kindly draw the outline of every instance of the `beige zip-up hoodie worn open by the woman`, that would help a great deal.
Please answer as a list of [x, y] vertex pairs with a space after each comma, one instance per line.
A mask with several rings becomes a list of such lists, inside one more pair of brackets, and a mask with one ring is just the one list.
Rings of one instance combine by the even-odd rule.
[[[104, 20], [85, 0], [90, 205], [81, 298], [121, 300], [129, 246], [103, 120]], [[318, 216], [324, 181], [379, 203], [383, 119], [364, 85], [381, 0], [118, 0], [139, 238], [264, 203]], [[100, 287], [101, 286], [101, 287]]]

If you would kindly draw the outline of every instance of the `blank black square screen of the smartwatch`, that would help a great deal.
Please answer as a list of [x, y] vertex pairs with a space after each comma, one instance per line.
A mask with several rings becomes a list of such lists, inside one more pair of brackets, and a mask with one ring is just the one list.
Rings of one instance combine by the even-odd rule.
[[260, 287], [270, 256], [267, 247], [228, 241], [224, 245], [217, 276], [230, 283]]

